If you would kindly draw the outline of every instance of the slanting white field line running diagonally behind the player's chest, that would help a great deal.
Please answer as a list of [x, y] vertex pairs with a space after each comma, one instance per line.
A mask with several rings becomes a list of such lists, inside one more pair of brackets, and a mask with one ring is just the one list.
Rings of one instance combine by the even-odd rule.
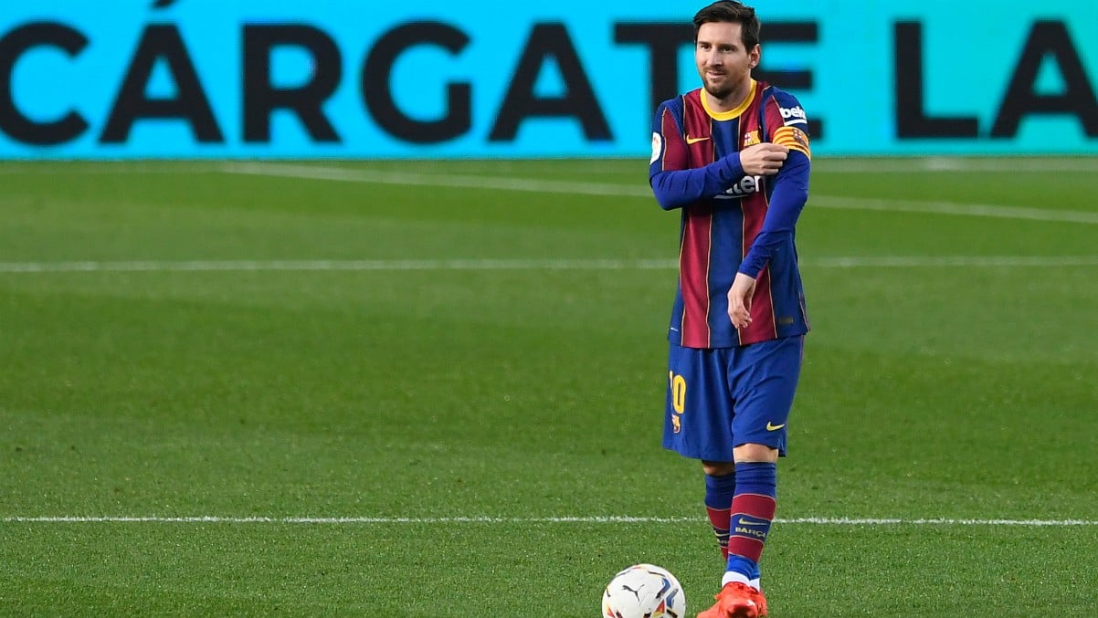
[[[445, 187], [450, 189], [528, 191], [535, 193], [557, 193], [568, 195], [652, 198], [652, 192], [647, 186], [638, 187], [631, 184], [600, 182], [560, 182], [551, 180], [473, 175], [436, 176], [428, 173], [373, 171], [291, 164], [227, 162], [223, 164], [221, 169], [225, 173], [235, 175], [300, 178], [310, 180], [335, 180], [368, 184], [401, 184], [413, 187]], [[872, 200], [865, 198], [811, 195], [808, 201], [808, 207], [914, 212], [925, 214], [1017, 218], [1026, 221], [1098, 225], [1098, 213], [1096, 212], [1027, 209], [1022, 206], [1005, 206], [998, 204], [961, 204], [954, 202], [918, 202], [911, 200]]]

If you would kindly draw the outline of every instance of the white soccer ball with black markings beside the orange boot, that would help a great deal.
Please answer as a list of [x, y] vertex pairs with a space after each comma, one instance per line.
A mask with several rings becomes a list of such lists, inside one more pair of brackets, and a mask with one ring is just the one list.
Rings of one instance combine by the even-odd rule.
[[603, 593], [605, 618], [685, 618], [686, 595], [670, 571], [635, 564], [621, 571]]

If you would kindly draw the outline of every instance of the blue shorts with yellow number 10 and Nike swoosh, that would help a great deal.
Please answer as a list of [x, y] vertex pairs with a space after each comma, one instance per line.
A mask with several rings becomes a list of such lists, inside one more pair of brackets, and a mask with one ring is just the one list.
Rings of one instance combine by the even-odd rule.
[[784, 456], [804, 349], [804, 335], [738, 348], [672, 344], [663, 448], [706, 461], [732, 461], [746, 443]]

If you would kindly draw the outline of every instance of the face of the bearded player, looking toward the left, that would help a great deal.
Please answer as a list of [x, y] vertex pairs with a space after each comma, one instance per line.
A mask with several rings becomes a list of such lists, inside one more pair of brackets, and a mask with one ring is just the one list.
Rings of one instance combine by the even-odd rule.
[[[730, 22], [704, 23], [697, 31], [694, 61], [705, 90], [726, 100], [751, 80], [751, 68], [759, 64], [759, 46], [743, 46], [743, 26]], [[739, 103], [739, 101], [735, 101]]]

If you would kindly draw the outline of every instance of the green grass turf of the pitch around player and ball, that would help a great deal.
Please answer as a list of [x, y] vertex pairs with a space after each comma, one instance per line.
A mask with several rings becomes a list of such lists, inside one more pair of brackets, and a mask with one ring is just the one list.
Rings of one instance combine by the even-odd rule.
[[[817, 161], [772, 616], [1098, 615], [1098, 165], [1066, 162]], [[635, 562], [705, 608], [645, 161], [292, 165], [560, 192], [0, 164], [0, 615], [583, 617]], [[943, 203], [990, 210], [912, 212]]]

